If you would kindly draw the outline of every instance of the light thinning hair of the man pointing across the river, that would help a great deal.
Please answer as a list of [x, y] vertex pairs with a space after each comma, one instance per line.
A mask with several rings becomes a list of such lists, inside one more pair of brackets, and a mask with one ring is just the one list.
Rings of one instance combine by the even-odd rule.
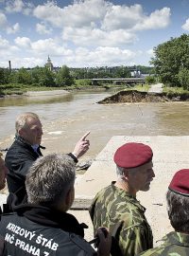
[[39, 117], [37, 114], [32, 113], [32, 112], [25, 112], [17, 117], [16, 122], [15, 122], [15, 129], [16, 129], [17, 135], [18, 135], [18, 132], [20, 129], [26, 128], [27, 121], [29, 119], [39, 119]]

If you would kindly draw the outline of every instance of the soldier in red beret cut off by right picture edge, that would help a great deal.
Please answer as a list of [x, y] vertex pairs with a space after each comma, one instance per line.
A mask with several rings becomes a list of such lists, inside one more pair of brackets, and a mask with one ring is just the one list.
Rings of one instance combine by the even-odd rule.
[[189, 255], [189, 169], [177, 172], [166, 193], [170, 223], [175, 231], [163, 237], [163, 244], [146, 250], [143, 256]]

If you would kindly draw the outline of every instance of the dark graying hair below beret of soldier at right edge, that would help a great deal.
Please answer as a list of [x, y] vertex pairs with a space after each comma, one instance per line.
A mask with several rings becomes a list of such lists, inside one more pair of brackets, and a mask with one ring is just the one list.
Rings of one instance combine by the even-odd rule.
[[167, 210], [172, 227], [176, 231], [189, 232], [189, 197], [168, 190]]

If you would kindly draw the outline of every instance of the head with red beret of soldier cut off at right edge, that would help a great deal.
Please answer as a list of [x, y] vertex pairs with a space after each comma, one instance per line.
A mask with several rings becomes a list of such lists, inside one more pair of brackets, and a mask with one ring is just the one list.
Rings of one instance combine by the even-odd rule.
[[173, 176], [166, 200], [172, 227], [189, 233], [189, 169], [182, 169]]

